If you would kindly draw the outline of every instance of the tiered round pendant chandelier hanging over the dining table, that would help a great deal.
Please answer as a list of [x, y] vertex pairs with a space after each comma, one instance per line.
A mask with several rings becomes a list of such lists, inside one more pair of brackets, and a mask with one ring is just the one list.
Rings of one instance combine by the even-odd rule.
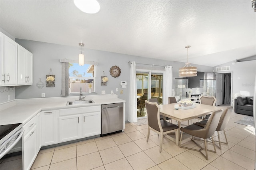
[[[188, 49], [190, 45], [187, 45], [185, 48]], [[180, 77], [194, 77], [197, 76], [197, 67], [193, 67], [188, 62], [188, 55], [187, 55], [187, 63], [184, 67], [179, 68], [179, 76]]]

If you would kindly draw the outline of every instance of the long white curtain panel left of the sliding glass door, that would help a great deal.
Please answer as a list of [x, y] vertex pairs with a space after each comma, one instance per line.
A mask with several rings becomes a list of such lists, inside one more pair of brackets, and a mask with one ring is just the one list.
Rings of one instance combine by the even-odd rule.
[[130, 123], [137, 122], [137, 83], [136, 83], [136, 63], [130, 63], [130, 94], [129, 94], [129, 117]]

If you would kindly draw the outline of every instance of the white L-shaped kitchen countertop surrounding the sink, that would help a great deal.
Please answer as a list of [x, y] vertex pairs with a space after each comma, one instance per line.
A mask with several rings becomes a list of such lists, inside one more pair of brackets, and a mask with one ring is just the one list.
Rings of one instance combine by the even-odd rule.
[[27, 123], [40, 111], [68, 109], [74, 107], [87, 107], [110, 103], [125, 103], [118, 99], [117, 95], [86, 96], [86, 100], [92, 99], [95, 103], [84, 105], [66, 105], [68, 101], [78, 100], [79, 97], [53, 97], [38, 99], [15, 99], [0, 105], [0, 125], [14, 123]]

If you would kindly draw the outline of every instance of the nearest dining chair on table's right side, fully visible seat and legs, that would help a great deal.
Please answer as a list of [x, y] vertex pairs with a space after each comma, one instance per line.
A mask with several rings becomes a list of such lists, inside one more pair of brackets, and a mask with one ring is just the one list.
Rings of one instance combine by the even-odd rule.
[[[181, 136], [180, 136], [180, 147], [181, 148], [186, 148], [186, 149], [190, 149], [190, 150], [195, 150], [195, 151], [199, 151], [203, 156], [204, 158], [206, 158], [206, 160], [208, 160], [208, 152], [207, 151], [210, 151], [210, 152], [214, 152], [216, 153], [216, 148], [215, 148], [215, 144], [214, 144], [214, 138], [213, 138], [213, 134], [218, 126], [218, 123], [220, 121], [220, 116], [222, 115], [222, 112], [223, 112], [223, 109], [222, 110], [218, 110], [218, 111], [215, 111], [213, 112], [208, 121], [206, 122], [206, 125], [204, 127], [201, 127], [201, 126], [198, 126], [198, 125], [195, 125], [195, 124], [192, 124], [192, 125], [189, 125], [187, 127], [181, 127], [180, 130], [181, 130]], [[187, 133], [187, 134], [190, 134], [192, 135], [192, 138], [191, 140], [198, 146], [200, 147], [199, 150], [197, 149], [194, 149], [194, 148], [188, 148], [188, 147], [185, 147], [185, 146], [182, 146], [182, 134], [183, 132]], [[193, 138], [193, 136], [196, 136], [196, 137], [199, 137], [199, 138], [203, 138], [204, 139], [204, 148], [202, 148]], [[212, 137], [212, 144], [213, 144], [213, 147], [214, 147], [214, 150], [208, 150], [207, 149], [207, 144], [206, 144], [206, 139]], [[205, 155], [203, 154], [203, 152], [201, 150], [205, 150]]]

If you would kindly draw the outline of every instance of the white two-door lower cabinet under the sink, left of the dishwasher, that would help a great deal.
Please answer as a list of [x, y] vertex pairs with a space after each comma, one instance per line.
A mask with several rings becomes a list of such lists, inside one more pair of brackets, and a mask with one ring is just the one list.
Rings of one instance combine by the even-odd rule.
[[61, 109], [60, 142], [101, 134], [100, 106]]

